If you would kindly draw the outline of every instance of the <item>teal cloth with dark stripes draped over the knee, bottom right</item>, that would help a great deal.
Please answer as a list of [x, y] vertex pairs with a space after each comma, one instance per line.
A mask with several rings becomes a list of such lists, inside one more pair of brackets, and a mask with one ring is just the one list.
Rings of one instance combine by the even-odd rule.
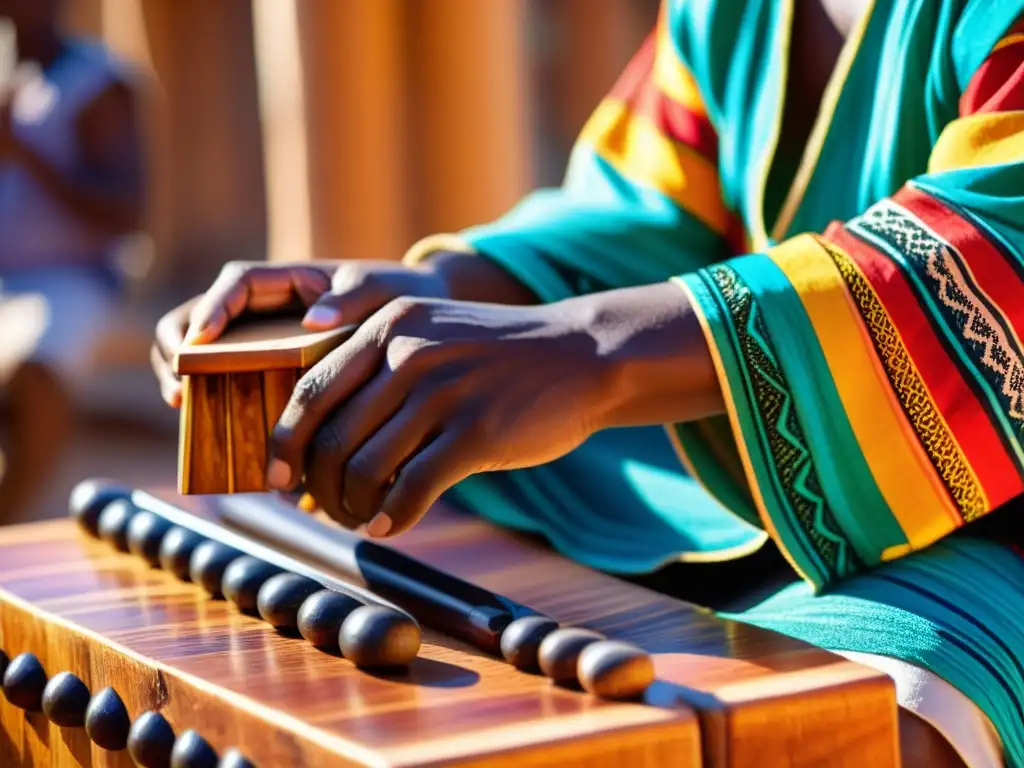
[[1024, 766], [1021, 585], [1024, 559], [1017, 554], [952, 537], [848, 579], [828, 594], [798, 583], [723, 615], [822, 648], [893, 656], [930, 670], [988, 716], [1008, 764]]

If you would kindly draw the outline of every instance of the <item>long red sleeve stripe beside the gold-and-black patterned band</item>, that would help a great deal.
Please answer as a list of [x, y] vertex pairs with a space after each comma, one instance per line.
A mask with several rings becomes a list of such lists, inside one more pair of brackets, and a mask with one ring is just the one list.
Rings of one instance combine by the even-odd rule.
[[842, 226], [830, 227], [825, 237], [850, 255], [874, 289], [990, 504], [1019, 495], [1024, 483], [999, 433], [935, 336], [899, 267]]

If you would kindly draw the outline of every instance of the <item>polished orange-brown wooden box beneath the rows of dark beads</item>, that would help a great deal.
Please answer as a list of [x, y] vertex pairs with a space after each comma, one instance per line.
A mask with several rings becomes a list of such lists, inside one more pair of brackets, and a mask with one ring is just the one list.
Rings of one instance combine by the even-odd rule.
[[[899, 762], [894, 691], [880, 673], [442, 507], [394, 544], [563, 624], [641, 645], [657, 681], [643, 705], [600, 701], [429, 631], [408, 675], [371, 675], [70, 521], [0, 530], [0, 647], [34, 651], [48, 674], [70, 670], [94, 691], [114, 685], [132, 717], [159, 709], [176, 732], [198, 728], [264, 768]], [[3, 766], [127, 764], [6, 702], [0, 722]]]

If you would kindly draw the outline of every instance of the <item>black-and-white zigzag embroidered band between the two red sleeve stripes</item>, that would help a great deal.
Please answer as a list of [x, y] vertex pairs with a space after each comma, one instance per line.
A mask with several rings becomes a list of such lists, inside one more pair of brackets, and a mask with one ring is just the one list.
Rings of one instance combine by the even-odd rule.
[[1000, 323], [999, 310], [983, 298], [970, 278], [963, 255], [910, 211], [892, 200], [871, 206], [847, 224], [902, 256], [931, 288], [943, 319], [958, 334], [962, 348], [992, 387], [1004, 413], [1024, 431], [1024, 359]]

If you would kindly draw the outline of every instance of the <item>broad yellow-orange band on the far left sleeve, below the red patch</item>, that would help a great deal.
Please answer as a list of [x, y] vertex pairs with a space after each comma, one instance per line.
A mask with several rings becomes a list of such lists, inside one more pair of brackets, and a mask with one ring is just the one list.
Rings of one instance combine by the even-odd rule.
[[729, 212], [722, 202], [718, 169], [634, 115], [625, 102], [605, 99], [584, 126], [580, 141], [630, 181], [654, 187], [715, 232], [725, 232]]

